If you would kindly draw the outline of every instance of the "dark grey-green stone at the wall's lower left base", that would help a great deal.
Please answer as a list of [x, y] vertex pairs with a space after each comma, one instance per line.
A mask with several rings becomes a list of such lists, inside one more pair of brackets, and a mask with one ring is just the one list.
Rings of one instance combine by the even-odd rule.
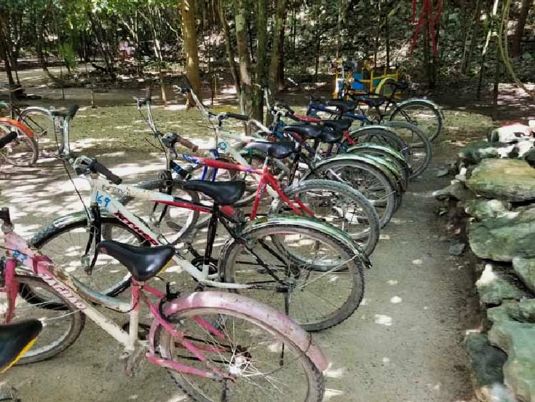
[[[493, 401], [497, 393], [496, 388], [493, 388], [494, 384], [500, 385], [504, 382], [502, 370], [507, 355], [501, 349], [491, 346], [489, 340], [482, 333], [469, 333], [464, 339], [464, 346], [468, 351], [472, 383], [477, 399], [479, 401]], [[511, 399], [512, 401], [514, 400]]]

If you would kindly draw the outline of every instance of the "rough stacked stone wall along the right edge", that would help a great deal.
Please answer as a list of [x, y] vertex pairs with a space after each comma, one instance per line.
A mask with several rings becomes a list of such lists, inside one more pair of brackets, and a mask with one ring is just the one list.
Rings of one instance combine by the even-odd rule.
[[[526, 127], [526, 126], [524, 126]], [[535, 165], [526, 132], [466, 146], [434, 196], [477, 256], [483, 322], [467, 335], [480, 401], [535, 402]], [[464, 236], [463, 236], [464, 234]], [[463, 243], [460, 244], [462, 250]]]

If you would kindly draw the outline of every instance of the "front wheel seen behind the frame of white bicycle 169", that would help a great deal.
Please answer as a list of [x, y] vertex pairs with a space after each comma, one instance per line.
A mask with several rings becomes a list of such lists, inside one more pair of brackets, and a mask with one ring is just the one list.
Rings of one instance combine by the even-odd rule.
[[[196, 191], [184, 190], [182, 184], [181, 180], [173, 180], [173, 196], [198, 203], [199, 194]], [[163, 188], [163, 180], [143, 181], [136, 184], [136, 187], [158, 191]], [[170, 244], [178, 243], [183, 236], [190, 233], [199, 218], [199, 212], [193, 211], [193, 209], [169, 206], [164, 203], [154, 203], [128, 196], [122, 196], [118, 201], [124, 206], [128, 206], [128, 211], [143, 219], [154, 233], [163, 236]]]

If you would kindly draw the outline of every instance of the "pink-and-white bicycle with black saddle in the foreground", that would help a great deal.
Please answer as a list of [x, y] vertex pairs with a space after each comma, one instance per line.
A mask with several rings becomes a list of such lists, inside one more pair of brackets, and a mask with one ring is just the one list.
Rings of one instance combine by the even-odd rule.
[[[170, 263], [172, 246], [98, 243], [132, 276], [131, 301], [91, 291], [14, 232], [9, 208], [1, 208], [6, 258], [0, 263], [4, 323], [39, 318], [44, 329], [21, 363], [51, 358], [70, 346], [87, 316], [124, 346], [120, 357], [133, 375], [146, 357], [163, 366], [195, 401], [321, 401], [327, 361], [310, 334], [284, 313], [235, 293], [180, 295], [148, 286]], [[31, 291], [29, 289], [31, 288]], [[148, 339], [139, 336], [141, 302], [154, 317]], [[128, 331], [96, 305], [128, 313]], [[146, 316], [146, 314], [143, 314]]]

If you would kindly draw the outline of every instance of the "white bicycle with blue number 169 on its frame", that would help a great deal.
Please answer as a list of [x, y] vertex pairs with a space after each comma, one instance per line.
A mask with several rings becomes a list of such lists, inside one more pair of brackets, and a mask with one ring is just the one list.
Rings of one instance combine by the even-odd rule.
[[[267, 174], [267, 166], [262, 170], [251, 169], [187, 154], [182, 156], [188, 161], [218, 169], [251, 171], [262, 175], [263, 183], [276, 185], [275, 179]], [[211, 213], [204, 253], [196, 251], [193, 243], [187, 241], [184, 251], [193, 255], [192, 261], [186, 260], [178, 250], [173, 257], [182, 271], [192, 276], [201, 288], [212, 286], [240, 293], [253, 291], [256, 298], [277, 304], [309, 331], [319, 331], [344, 321], [362, 300], [363, 269], [370, 266], [362, 248], [347, 233], [316, 219], [268, 216], [255, 220], [254, 208], [258, 204], [253, 205], [251, 221], [243, 221], [231, 207], [245, 191], [243, 181], [185, 181], [185, 190], [197, 191], [214, 200], [213, 206], [207, 206], [159, 191], [120, 184], [118, 176], [87, 156], [78, 157], [74, 166], [77, 174], [89, 176], [91, 203], [88, 211], [57, 219], [34, 236], [31, 244], [43, 249], [58, 239], [58, 254], [52, 256], [54, 261], [68, 265], [81, 281], [89, 278], [93, 291], [116, 295], [131, 281], [121, 271], [101, 270], [105, 262], [98, 261], [94, 245], [106, 233], [104, 226], [113, 224], [152, 246], [171, 243], [119, 203], [115, 196], [121, 195]], [[98, 174], [106, 179], [100, 179]], [[278, 187], [277, 192], [286, 198]], [[296, 213], [302, 214], [298, 203], [287, 198], [285, 201], [295, 208]], [[223, 224], [231, 238], [215, 259], [213, 245], [218, 222]], [[50, 255], [49, 250], [46, 253]], [[91, 275], [93, 268], [98, 275]], [[336, 295], [336, 301], [324, 306], [323, 301], [313, 295], [318, 286]], [[304, 309], [302, 303], [306, 304]], [[318, 303], [321, 306], [317, 306]], [[292, 309], [290, 304], [296, 307]]]

